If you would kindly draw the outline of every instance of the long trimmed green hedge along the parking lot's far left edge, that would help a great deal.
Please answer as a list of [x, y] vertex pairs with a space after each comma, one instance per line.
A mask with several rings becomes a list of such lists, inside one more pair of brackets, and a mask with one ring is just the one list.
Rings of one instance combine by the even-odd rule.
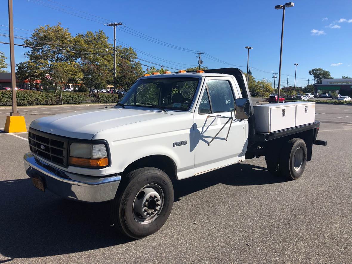
[[[102, 103], [117, 103], [119, 101], [118, 94], [101, 94], [99, 93]], [[39, 91], [17, 91], [17, 105], [61, 105], [60, 93], [39, 92]], [[62, 92], [62, 101], [64, 104], [79, 103], [99, 103], [97, 93], [73, 93]], [[12, 105], [11, 91], [0, 91], [0, 105]]]

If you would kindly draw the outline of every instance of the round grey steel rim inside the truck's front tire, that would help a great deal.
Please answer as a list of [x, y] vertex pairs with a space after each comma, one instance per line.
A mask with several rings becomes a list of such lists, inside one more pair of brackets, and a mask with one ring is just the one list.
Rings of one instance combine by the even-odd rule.
[[159, 216], [164, 205], [164, 192], [151, 183], [140, 189], [133, 201], [133, 217], [140, 224], [149, 224]]

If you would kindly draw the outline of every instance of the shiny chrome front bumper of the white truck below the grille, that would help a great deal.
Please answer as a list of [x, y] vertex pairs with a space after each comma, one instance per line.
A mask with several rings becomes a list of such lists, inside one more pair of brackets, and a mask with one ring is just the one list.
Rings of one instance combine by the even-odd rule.
[[45, 189], [67, 199], [84, 202], [103, 202], [114, 199], [121, 176], [96, 178], [57, 169], [39, 160], [32, 153], [23, 157], [26, 173], [39, 178]]

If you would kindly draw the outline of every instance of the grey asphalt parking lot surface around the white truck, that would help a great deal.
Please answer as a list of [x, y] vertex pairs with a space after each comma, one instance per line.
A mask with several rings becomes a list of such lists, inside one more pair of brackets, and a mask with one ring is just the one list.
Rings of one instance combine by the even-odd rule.
[[[46, 115], [104, 107], [18, 111], [29, 126]], [[9, 112], [0, 107], [0, 130]], [[328, 145], [313, 146], [299, 180], [270, 175], [260, 157], [177, 181], [168, 221], [140, 240], [114, 232], [109, 203], [34, 188], [22, 161], [27, 133], [0, 133], [0, 262], [352, 263], [352, 105], [318, 104], [315, 119]]]

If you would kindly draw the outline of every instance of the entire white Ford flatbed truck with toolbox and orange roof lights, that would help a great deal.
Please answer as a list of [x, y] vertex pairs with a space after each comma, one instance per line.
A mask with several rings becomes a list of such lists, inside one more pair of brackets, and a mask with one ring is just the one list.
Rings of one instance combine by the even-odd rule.
[[112, 201], [114, 226], [142, 238], [168, 219], [171, 179], [260, 156], [272, 174], [299, 178], [312, 145], [326, 142], [316, 140], [314, 113], [306, 119], [294, 112], [294, 104], [253, 107], [244, 74], [236, 68], [155, 73], [139, 78], [114, 108], [34, 120], [25, 170], [42, 191]]

